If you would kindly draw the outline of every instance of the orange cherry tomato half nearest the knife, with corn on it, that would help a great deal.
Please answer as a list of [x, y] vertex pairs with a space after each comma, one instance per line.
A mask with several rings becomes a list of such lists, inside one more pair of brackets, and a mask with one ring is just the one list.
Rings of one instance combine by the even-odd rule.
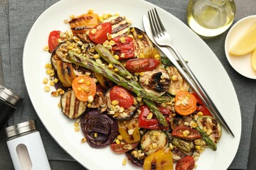
[[188, 91], [178, 91], [175, 96], [175, 111], [180, 115], [189, 115], [196, 111], [196, 98]]

